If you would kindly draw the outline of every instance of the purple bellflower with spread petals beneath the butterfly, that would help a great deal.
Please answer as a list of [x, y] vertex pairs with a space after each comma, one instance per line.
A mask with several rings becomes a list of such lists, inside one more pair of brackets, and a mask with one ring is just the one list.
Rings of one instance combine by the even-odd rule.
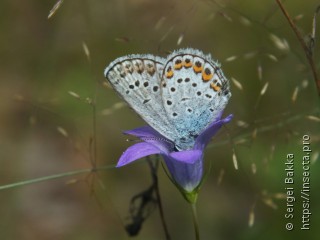
[[[221, 116], [221, 115], [220, 115]], [[194, 203], [203, 179], [204, 150], [210, 139], [218, 132], [223, 124], [231, 121], [232, 114], [212, 122], [196, 139], [189, 150], [177, 150], [174, 143], [163, 137], [150, 126], [144, 126], [125, 131], [125, 134], [138, 137], [142, 142], [129, 147], [120, 157], [117, 167], [122, 167], [140, 158], [160, 154], [171, 180], [179, 188], [187, 201]]]

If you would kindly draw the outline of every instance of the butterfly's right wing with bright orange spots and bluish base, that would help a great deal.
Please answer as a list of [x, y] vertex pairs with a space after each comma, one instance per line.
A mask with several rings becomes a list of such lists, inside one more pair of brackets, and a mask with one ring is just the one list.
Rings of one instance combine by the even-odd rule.
[[169, 55], [163, 68], [162, 101], [177, 130], [177, 148], [190, 149], [195, 138], [220, 117], [231, 96], [220, 66], [202, 52], [182, 49]]

